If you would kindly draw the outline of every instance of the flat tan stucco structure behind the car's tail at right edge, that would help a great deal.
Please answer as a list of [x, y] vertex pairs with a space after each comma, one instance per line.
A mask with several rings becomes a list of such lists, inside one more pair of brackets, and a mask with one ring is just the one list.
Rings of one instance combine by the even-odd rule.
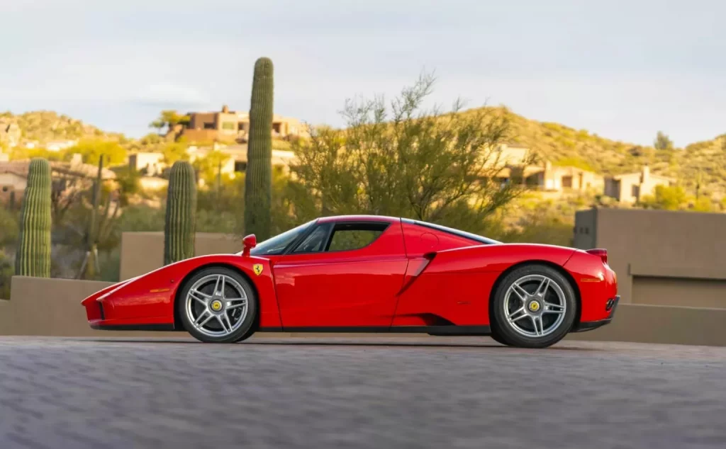
[[726, 214], [581, 210], [574, 246], [608, 250], [625, 304], [726, 309]]

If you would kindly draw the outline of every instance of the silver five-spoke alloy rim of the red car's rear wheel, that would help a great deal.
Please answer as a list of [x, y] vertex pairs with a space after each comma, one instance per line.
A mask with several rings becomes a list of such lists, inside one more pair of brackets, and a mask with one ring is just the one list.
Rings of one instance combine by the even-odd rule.
[[510, 285], [504, 313], [512, 329], [525, 337], [545, 337], [565, 320], [567, 302], [562, 288], [547, 276], [529, 274]]

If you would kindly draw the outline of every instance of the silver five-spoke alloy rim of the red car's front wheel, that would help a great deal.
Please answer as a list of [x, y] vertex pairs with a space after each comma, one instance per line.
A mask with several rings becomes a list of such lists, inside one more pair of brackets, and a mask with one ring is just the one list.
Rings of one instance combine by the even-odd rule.
[[196, 281], [186, 298], [189, 323], [208, 337], [227, 337], [247, 317], [245, 289], [232, 277], [210, 274]]

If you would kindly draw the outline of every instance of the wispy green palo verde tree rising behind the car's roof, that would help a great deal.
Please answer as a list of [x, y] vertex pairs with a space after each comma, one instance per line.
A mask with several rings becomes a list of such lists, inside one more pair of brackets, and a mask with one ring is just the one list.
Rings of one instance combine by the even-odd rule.
[[426, 110], [433, 76], [422, 75], [390, 104], [348, 100], [342, 130], [314, 128], [296, 148], [290, 181], [300, 215], [368, 213], [481, 231], [520, 191], [502, 184], [500, 146], [507, 112], [484, 107]]

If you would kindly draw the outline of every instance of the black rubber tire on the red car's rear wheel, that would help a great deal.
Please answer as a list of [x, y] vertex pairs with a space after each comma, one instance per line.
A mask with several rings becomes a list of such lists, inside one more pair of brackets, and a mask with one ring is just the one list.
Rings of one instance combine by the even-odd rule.
[[[514, 293], [511, 293], [510, 309], [505, 311], [507, 291], [513, 286], [515, 281], [522, 281], [524, 279], [525, 281], [521, 282], [524, 292], [531, 295], [537, 293], [537, 287], [540, 287], [537, 285], [540, 282], [539, 279], [544, 280], [545, 277], [549, 279], [549, 283], [544, 292], [544, 297], [525, 295], [528, 299], [522, 300], [520, 296], [515, 296]], [[560, 297], [560, 293], [562, 297]], [[552, 296], [553, 294], [554, 296]], [[531, 302], [538, 302], [537, 310], [539, 310], [539, 314], [529, 308]], [[560, 314], [555, 312], [544, 311], [550, 308], [550, 304], [558, 305], [560, 302], [563, 303], [565, 308], [564, 313], [561, 314], [563, 318], [560, 319]], [[518, 310], [519, 308], [524, 310], [515, 315], [515, 319], [513, 319], [513, 321], [518, 321], [518, 324], [511, 323], [507, 320], [507, 314], [514, 315], [512, 310]], [[497, 287], [497, 291], [494, 293], [491, 310], [492, 317], [494, 318], [492, 320], [492, 338], [494, 338], [494, 335], [497, 335], [499, 339], [502, 339], [502, 344], [505, 345], [542, 348], [552, 346], [559, 342], [570, 331], [576, 316], [577, 299], [570, 282], [559, 271], [547, 265], [523, 265], [508, 273], [499, 283], [499, 287]], [[531, 318], [530, 315], [534, 315], [535, 317]], [[519, 318], [520, 316], [522, 318]], [[526, 335], [526, 333], [537, 334], [539, 332], [536, 330], [536, 327], [533, 327], [537, 326], [534, 324], [534, 321], [538, 319], [537, 316], [539, 316], [539, 329], [542, 329], [542, 335]], [[550, 326], [547, 326], [547, 329], [545, 329], [544, 323], [547, 322]], [[532, 329], [529, 331], [528, 329], [523, 329], [526, 326]]]

